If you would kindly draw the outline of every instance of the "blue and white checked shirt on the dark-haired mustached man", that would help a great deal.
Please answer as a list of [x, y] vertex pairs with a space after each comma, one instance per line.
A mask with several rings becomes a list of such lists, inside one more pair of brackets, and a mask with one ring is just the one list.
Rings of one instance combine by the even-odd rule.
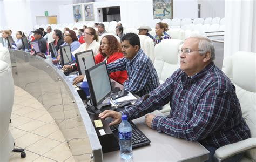
[[150, 58], [142, 49], [132, 59], [120, 58], [113, 63], [107, 64], [109, 72], [127, 70], [128, 80], [124, 82], [127, 91], [143, 96], [159, 86], [157, 71]]

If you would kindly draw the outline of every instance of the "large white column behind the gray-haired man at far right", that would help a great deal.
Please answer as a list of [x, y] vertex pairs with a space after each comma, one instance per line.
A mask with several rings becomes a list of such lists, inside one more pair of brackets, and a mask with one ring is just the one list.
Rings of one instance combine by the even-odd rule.
[[254, 0], [226, 0], [224, 57], [237, 51], [255, 51]]

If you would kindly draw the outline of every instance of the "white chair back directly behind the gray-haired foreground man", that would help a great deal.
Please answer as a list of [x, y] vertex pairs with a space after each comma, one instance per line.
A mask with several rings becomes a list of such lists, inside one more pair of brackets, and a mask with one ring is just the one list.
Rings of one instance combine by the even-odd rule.
[[[223, 60], [223, 72], [235, 85], [242, 117], [256, 137], [256, 53], [238, 51]], [[246, 63], [246, 64], [245, 64]], [[256, 160], [256, 149], [246, 152], [246, 156]]]

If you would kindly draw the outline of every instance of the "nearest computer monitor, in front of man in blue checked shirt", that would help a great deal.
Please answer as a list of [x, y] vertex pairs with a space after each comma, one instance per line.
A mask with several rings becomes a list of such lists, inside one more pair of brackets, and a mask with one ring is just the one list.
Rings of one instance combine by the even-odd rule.
[[112, 91], [106, 62], [101, 62], [86, 69], [85, 75], [90, 90], [91, 104], [97, 107]]

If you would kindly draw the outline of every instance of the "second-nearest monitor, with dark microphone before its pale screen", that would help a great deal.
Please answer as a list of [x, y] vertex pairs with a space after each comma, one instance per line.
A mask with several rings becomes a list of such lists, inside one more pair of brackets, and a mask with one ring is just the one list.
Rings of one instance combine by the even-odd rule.
[[85, 75], [85, 69], [89, 69], [95, 65], [95, 59], [92, 50], [76, 53], [75, 58], [79, 75]]

